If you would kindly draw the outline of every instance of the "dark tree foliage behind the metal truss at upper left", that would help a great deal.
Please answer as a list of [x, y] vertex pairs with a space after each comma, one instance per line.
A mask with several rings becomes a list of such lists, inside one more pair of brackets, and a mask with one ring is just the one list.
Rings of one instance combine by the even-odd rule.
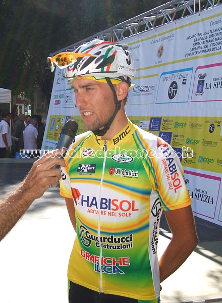
[[48, 102], [53, 74], [50, 53], [115, 26], [168, 1], [0, 0], [0, 87], [34, 98], [35, 85]]

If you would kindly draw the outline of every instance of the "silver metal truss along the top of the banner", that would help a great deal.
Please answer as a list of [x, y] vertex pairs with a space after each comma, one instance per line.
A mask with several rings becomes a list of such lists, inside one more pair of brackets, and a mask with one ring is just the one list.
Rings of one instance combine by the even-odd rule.
[[173, 0], [125, 22], [94, 34], [93, 36], [62, 48], [59, 51], [50, 54], [50, 56], [60, 52], [73, 52], [78, 46], [93, 39], [120, 41], [124, 38], [147, 32], [164, 24], [168, 24], [186, 16], [210, 9], [219, 5], [221, 1], [222, 0]]

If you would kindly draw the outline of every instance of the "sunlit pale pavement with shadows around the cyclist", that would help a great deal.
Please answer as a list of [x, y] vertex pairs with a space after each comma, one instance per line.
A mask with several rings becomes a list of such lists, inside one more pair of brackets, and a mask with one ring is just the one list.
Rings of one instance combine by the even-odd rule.
[[[1, 198], [33, 159], [0, 159]], [[162, 282], [161, 303], [222, 302], [222, 226], [195, 217], [199, 243]], [[59, 187], [48, 188], [0, 243], [0, 303], [67, 303], [67, 265], [75, 232]], [[171, 239], [161, 218], [158, 256]], [[88, 302], [86, 302], [88, 303]]]

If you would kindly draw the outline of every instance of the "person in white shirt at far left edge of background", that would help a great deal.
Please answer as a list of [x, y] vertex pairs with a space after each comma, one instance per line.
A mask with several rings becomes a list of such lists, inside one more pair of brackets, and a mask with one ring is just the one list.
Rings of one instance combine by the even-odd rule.
[[10, 146], [12, 145], [12, 135], [9, 122], [11, 113], [5, 113], [0, 122], [0, 158], [10, 158]]

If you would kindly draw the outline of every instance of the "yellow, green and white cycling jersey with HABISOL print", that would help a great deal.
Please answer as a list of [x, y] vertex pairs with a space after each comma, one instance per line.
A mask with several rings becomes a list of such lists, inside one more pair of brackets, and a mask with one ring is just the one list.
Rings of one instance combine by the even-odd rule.
[[92, 290], [159, 297], [157, 243], [162, 209], [192, 203], [172, 147], [130, 121], [110, 141], [76, 136], [60, 193], [73, 198], [77, 236], [68, 279]]

